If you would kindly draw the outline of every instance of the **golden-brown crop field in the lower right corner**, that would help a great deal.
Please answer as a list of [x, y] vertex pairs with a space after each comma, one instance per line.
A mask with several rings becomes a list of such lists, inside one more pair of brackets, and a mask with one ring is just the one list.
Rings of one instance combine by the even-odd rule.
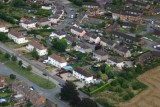
[[138, 80], [148, 86], [148, 89], [135, 96], [129, 102], [118, 107], [159, 107], [160, 106], [160, 66], [138, 77]]

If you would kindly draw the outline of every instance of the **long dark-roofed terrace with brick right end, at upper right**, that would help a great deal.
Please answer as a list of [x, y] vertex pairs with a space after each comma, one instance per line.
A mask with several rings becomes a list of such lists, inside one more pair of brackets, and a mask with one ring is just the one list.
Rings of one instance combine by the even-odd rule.
[[117, 37], [117, 38], [120, 38], [122, 40], [125, 40], [127, 42], [133, 42], [136, 44], [144, 44], [144, 41], [142, 39], [139, 39], [139, 38], [136, 38], [133, 36], [129, 36], [129, 35], [122, 33], [122, 32], [112, 31], [112, 32], [110, 32], [110, 35]]

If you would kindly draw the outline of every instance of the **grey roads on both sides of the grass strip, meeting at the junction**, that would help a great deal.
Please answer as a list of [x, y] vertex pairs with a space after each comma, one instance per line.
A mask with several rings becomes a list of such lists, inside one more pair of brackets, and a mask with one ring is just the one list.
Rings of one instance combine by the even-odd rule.
[[[25, 57], [19, 55], [16, 51], [13, 51], [12, 49], [9, 49], [8, 47], [4, 46], [2, 43], [0, 43], [0, 50], [8, 52], [10, 54], [14, 54], [15, 56], [17, 56], [18, 60], [22, 60], [23, 63], [25, 63], [26, 65], [28, 65], [28, 64], [32, 65], [32, 68], [34, 69], [33, 73], [38, 74], [39, 76], [43, 77], [42, 74], [47, 73], [47, 71], [45, 71], [43, 68], [36, 65], [35, 63], [32, 63], [30, 60], [26, 59]], [[5, 74], [5, 75], [9, 75], [10, 73], [14, 72], [11, 69], [4, 67], [4, 65], [2, 65], [2, 64], [0, 64], [0, 70], [1, 70], [0, 73]], [[65, 81], [63, 81], [61, 78], [57, 77], [56, 75], [52, 76], [52, 75], [48, 74], [50, 77], [50, 80], [52, 80], [55, 84], [57, 84], [57, 87], [52, 90], [44, 90], [44, 89], [38, 87], [37, 85], [29, 82], [27, 79], [18, 75], [17, 73], [14, 72], [14, 74], [16, 74], [18, 78], [20, 77], [20, 79], [27, 81], [27, 83], [29, 83], [30, 85], [35, 86], [35, 89], [37, 89], [39, 92], [43, 93], [46, 96], [46, 98], [48, 98], [52, 102], [56, 103], [59, 107], [69, 107], [69, 105], [67, 105], [64, 102], [62, 102], [61, 100], [55, 98], [55, 95], [60, 92], [60, 87], [58, 84], [65, 83]], [[81, 91], [79, 91], [79, 95], [81, 98], [88, 97], [88, 95], [82, 93]]]

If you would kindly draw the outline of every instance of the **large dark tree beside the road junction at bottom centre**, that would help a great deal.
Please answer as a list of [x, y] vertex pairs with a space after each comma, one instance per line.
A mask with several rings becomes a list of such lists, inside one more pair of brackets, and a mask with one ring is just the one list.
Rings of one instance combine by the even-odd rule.
[[60, 92], [61, 99], [69, 102], [72, 102], [74, 98], [78, 97], [78, 94], [76, 86], [70, 81], [66, 81]]

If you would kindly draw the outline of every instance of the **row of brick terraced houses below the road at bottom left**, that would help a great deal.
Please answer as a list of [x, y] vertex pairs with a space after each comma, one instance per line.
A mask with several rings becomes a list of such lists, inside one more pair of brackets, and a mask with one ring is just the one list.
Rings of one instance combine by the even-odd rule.
[[12, 83], [12, 91], [23, 95], [25, 99], [30, 100], [35, 107], [39, 107], [45, 104], [46, 98], [37, 91], [31, 89], [31, 87], [29, 87], [28, 84], [23, 81], [14, 81]]

